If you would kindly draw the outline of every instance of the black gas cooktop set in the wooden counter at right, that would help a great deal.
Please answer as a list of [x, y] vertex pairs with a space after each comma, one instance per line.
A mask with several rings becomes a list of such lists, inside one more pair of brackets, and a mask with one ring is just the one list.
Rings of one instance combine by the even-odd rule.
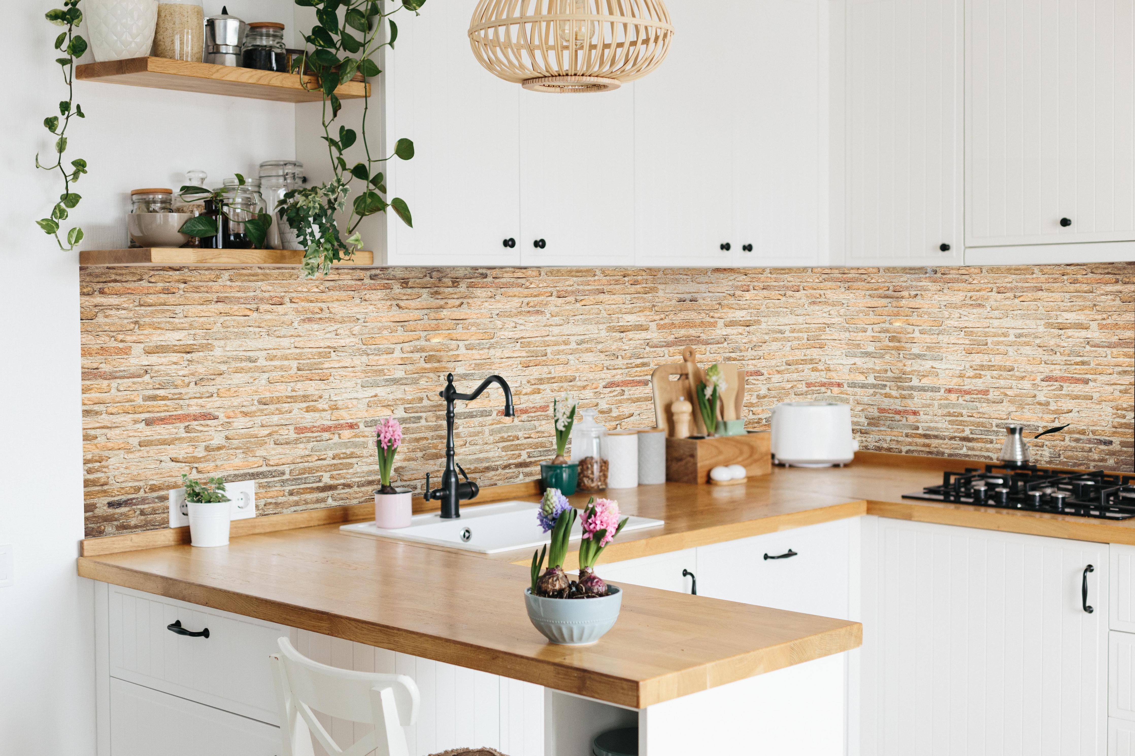
[[1135, 517], [1135, 475], [986, 465], [943, 473], [942, 485], [902, 498], [1126, 520]]

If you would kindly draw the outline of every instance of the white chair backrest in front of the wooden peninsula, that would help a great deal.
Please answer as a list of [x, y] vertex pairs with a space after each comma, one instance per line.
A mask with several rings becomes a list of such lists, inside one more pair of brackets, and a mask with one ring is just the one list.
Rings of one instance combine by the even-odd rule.
[[[287, 638], [271, 654], [280, 713], [284, 756], [312, 756], [311, 738], [331, 756], [409, 756], [402, 730], [418, 720], [418, 686], [405, 674], [355, 672], [313, 662]], [[316, 712], [363, 724], [375, 731], [350, 748], [340, 748], [316, 719]]]

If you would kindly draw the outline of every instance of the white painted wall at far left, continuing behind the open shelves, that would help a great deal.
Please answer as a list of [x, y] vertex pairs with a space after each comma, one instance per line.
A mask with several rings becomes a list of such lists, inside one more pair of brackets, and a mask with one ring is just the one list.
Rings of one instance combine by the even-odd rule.
[[[7, 77], [0, 108], [0, 544], [15, 583], [0, 588], [0, 754], [94, 753], [93, 597], [75, 574], [83, 537], [78, 264], [34, 224], [61, 192], [34, 169], [48, 154], [42, 120], [66, 91], [51, 43], [50, 0], [6, 2]], [[247, 20], [292, 25], [284, 0], [229, 0]], [[205, 0], [216, 12], [221, 0]], [[126, 244], [129, 190], [176, 188], [201, 168], [210, 185], [262, 160], [295, 155], [294, 105], [78, 83], [87, 113], [68, 159], [91, 173], [76, 189], [85, 248]]]

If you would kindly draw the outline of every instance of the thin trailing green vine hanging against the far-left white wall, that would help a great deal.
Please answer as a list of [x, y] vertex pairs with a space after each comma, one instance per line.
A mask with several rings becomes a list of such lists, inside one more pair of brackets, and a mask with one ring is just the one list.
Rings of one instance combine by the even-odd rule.
[[48, 236], [52, 236], [59, 248], [70, 252], [83, 240], [83, 229], [75, 227], [67, 231], [67, 244], [59, 237], [60, 224], [67, 220], [69, 211], [78, 205], [82, 197], [72, 192], [72, 184], [78, 181], [79, 177], [86, 172], [86, 161], [77, 158], [70, 161], [69, 167], [64, 165], [64, 153], [67, 152], [67, 127], [70, 126], [72, 118], [86, 118], [82, 105], [75, 102], [75, 59], [82, 58], [86, 52], [86, 40], [75, 34], [75, 28], [83, 22], [83, 11], [78, 9], [79, 0], [64, 0], [62, 8], [49, 10], [45, 18], [56, 26], [64, 26], [66, 31], [56, 37], [56, 50], [64, 57], [56, 58], [56, 62], [62, 68], [64, 84], [67, 85], [67, 99], [59, 102], [59, 114], [49, 116], [43, 119], [43, 126], [56, 136], [56, 162], [47, 165], [40, 163], [40, 154], [35, 154], [35, 167], [45, 171], [59, 171], [64, 179], [64, 193], [59, 195], [59, 202], [51, 209], [51, 215], [35, 221]]

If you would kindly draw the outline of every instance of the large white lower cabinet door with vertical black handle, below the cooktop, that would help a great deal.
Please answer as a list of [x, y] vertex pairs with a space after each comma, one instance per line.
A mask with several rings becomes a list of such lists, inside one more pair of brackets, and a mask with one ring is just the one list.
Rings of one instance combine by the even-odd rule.
[[867, 517], [861, 553], [860, 753], [1104, 751], [1105, 545]]

